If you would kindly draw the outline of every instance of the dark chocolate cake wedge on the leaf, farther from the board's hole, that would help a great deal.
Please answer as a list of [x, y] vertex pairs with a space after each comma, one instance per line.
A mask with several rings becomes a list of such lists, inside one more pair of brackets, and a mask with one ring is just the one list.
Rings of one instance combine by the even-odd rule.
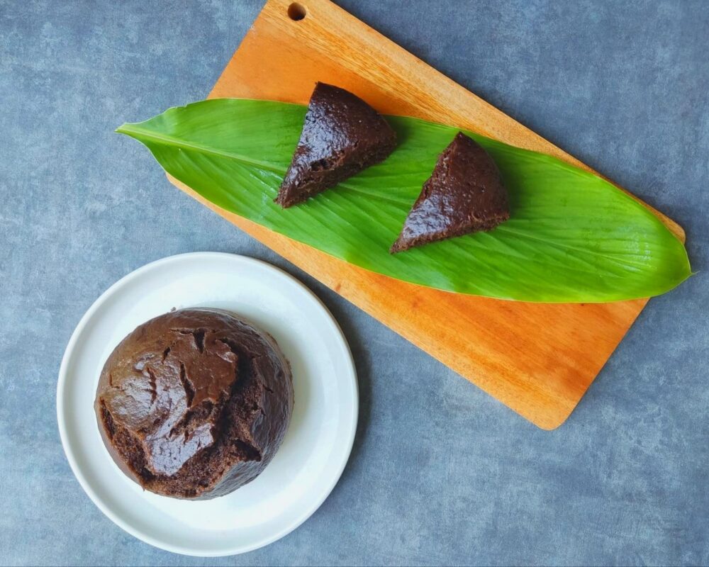
[[508, 218], [507, 191], [495, 162], [459, 132], [438, 157], [390, 252], [490, 230]]

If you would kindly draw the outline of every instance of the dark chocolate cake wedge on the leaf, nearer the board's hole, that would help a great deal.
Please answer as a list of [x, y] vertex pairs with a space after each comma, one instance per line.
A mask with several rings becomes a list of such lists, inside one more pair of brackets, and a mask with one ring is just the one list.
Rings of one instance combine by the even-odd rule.
[[318, 83], [276, 202], [283, 208], [334, 187], [396, 147], [396, 133], [369, 104], [345, 89]]

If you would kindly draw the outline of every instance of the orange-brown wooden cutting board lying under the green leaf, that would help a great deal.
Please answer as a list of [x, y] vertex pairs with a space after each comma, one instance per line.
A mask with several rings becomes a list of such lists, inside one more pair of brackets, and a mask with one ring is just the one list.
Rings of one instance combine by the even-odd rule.
[[[342, 86], [382, 113], [457, 125], [590, 171], [328, 0], [269, 0], [210, 98], [307, 103], [316, 81]], [[172, 181], [547, 430], [574, 410], [647, 303], [518, 303], [415, 286], [294, 242]], [[679, 225], [657, 215], [684, 239]]]

